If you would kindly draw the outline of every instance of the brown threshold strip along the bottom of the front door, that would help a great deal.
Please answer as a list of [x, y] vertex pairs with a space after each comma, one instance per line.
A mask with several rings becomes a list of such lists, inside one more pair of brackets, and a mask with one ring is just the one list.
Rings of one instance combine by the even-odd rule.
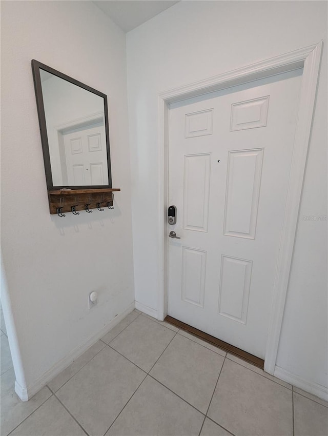
[[235, 356], [244, 360], [245, 362], [251, 363], [252, 365], [257, 366], [258, 368], [264, 369], [264, 360], [256, 356], [253, 356], [253, 354], [243, 351], [240, 348], [228, 344], [227, 342], [221, 341], [220, 339], [214, 338], [214, 336], [211, 336], [208, 333], [204, 333], [203, 331], [198, 330], [197, 328], [192, 327], [186, 323], [182, 323], [182, 321], [176, 320], [175, 318], [172, 318], [172, 316], [167, 315], [165, 321], [176, 327], [179, 327], [182, 330], [188, 331], [188, 333], [193, 334], [194, 336], [196, 336], [196, 338], [206, 341], [209, 344], [212, 344], [223, 351], [227, 351], [230, 354], [234, 354]]

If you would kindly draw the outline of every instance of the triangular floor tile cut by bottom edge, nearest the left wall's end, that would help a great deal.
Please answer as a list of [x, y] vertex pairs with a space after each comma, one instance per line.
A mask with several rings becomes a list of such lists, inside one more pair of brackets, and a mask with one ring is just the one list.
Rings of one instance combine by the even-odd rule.
[[52, 396], [10, 436], [86, 436], [86, 433]]

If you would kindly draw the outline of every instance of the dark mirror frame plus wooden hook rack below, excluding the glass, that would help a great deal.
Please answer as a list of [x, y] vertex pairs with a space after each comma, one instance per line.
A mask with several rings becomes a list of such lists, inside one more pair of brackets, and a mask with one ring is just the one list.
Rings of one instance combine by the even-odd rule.
[[[40, 77], [40, 69], [45, 70], [57, 77], [66, 80], [73, 85], [77, 85], [87, 91], [90, 91], [100, 97], [104, 98], [104, 118], [105, 118], [105, 132], [106, 132], [106, 147], [107, 147], [107, 169], [108, 169], [108, 185], [92, 185], [92, 186], [57, 186], [53, 185], [49, 142], [46, 126], [46, 115], [44, 108], [42, 83]], [[74, 78], [60, 73], [59, 71], [48, 67], [41, 62], [32, 60], [32, 72], [36, 97], [37, 113], [39, 118], [40, 134], [42, 141], [42, 149], [44, 156], [44, 165], [46, 171], [46, 181], [49, 197], [50, 213], [57, 213], [60, 217], [65, 216], [63, 212], [72, 212], [74, 215], [78, 214], [77, 210], [86, 210], [92, 212], [90, 209], [97, 208], [100, 211], [104, 209], [101, 205], [106, 205], [109, 209], [113, 209], [113, 191], [120, 191], [118, 188], [112, 188], [111, 176], [111, 160], [110, 160], [110, 146], [109, 146], [109, 125], [108, 125], [108, 105], [107, 95], [94, 88], [91, 88], [84, 83], [81, 83]]]

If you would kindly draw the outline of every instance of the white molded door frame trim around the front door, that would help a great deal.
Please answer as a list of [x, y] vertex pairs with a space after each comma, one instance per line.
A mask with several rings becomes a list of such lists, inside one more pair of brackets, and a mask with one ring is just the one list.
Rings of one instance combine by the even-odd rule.
[[[157, 318], [165, 319], [168, 312], [168, 184], [169, 184], [169, 105], [187, 98], [260, 78], [303, 68], [299, 111], [296, 122], [291, 173], [286, 195], [284, 219], [279, 244], [273, 299], [270, 310], [264, 371], [273, 374], [277, 359], [286, 293], [292, 264], [299, 206], [302, 194], [306, 156], [317, 91], [322, 41], [289, 53], [271, 57], [233, 71], [182, 85], [157, 95], [158, 98], [158, 169], [159, 169], [159, 291]], [[296, 146], [297, 145], [297, 146]]]

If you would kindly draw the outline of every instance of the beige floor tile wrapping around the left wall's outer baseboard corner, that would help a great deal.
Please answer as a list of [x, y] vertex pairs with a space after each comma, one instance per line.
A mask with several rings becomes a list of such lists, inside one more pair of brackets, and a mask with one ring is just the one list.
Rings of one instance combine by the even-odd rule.
[[13, 368], [1, 376], [1, 436], [7, 436], [18, 424], [42, 405], [51, 395], [44, 387], [27, 402], [22, 402], [14, 392]]

